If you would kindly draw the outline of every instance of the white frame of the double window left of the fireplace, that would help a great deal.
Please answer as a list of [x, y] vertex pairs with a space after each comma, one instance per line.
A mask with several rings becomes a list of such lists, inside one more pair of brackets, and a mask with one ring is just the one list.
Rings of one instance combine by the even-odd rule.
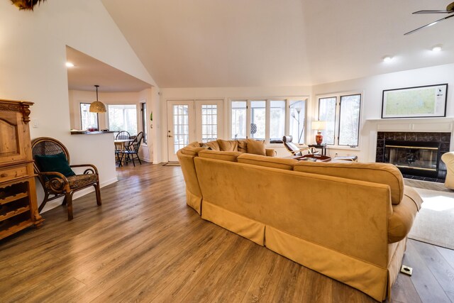
[[[339, 144], [339, 136], [341, 133], [341, 100], [342, 97], [351, 97], [351, 96], [360, 96], [360, 110], [358, 112], [358, 142], [357, 145], [341, 145]], [[362, 119], [362, 103], [363, 103], [363, 94], [362, 92], [341, 92], [336, 94], [323, 94], [317, 95], [317, 120], [320, 120], [320, 99], [336, 98], [336, 114], [334, 120], [334, 144], [326, 144], [331, 146], [331, 148], [359, 148], [360, 146], [360, 130], [361, 130], [361, 119]]]

